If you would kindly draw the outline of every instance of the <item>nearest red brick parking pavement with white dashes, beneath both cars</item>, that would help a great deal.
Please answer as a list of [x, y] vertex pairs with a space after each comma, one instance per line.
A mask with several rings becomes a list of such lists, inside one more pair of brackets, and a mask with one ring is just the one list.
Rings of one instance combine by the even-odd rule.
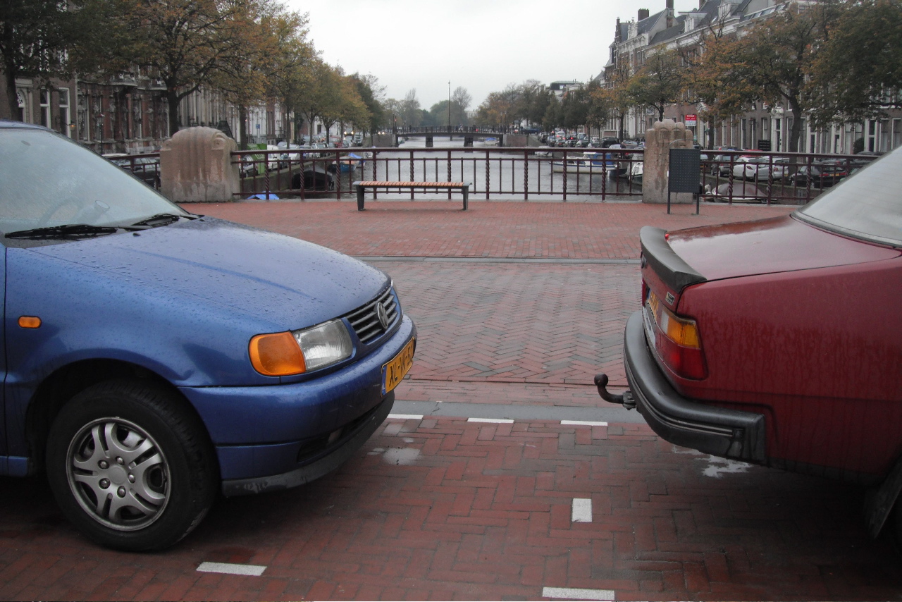
[[[861, 491], [676, 449], [644, 425], [388, 421], [336, 473], [220, 500], [160, 554], [87, 544], [40, 479], [0, 479], [0, 598], [79, 600], [902, 597]], [[572, 523], [574, 498], [592, 522]], [[204, 561], [260, 577], [200, 573]]]

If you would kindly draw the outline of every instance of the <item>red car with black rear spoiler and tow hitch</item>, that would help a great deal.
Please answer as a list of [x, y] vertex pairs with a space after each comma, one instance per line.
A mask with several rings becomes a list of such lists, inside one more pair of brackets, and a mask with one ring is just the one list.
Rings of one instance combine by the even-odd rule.
[[902, 148], [785, 217], [643, 227], [630, 389], [599, 393], [677, 445], [878, 486], [876, 536], [902, 488], [899, 173]]

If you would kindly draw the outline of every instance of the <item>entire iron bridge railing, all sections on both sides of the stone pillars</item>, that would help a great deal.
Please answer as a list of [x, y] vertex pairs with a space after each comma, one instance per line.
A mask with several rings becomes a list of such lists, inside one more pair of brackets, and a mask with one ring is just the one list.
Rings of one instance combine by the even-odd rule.
[[[354, 193], [354, 181], [375, 180], [465, 181], [471, 184], [471, 199], [566, 201], [640, 197], [642, 153], [642, 149], [611, 148], [328, 148], [238, 151], [232, 159], [241, 175], [236, 199], [342, 199]], [[790, 205], [815, 199], [876, 158], [732, 150], [702, 153], [699, 194], [703, 200]], [[159, 157], [159, 153], [146, 153], [115, 161], [159, 188]], [[368, 194], [414, 198], [412, 190]], [[419, 191], [416, 197], [450, 195]]]

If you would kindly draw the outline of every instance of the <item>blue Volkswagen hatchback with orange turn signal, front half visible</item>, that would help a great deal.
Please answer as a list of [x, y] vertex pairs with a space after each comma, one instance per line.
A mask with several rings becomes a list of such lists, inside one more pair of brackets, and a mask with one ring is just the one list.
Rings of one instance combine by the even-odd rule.
[[417, 332], [385, 273], [193, 215], [35, 125], [0, 121], [0, 182], [0, 475], [46, 470], [92, 540], [170, 546], [391, 411]]

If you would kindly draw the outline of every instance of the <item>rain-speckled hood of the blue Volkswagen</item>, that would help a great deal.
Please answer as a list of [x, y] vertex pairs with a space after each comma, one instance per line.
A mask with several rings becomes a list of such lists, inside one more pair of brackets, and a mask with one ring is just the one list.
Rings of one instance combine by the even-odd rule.
[[216, 218], [32, 251], [115, 273], [155, 294], [227, 306], [277, 330], [336, 318], [389, 283], [379, 270], [326, 247]]

